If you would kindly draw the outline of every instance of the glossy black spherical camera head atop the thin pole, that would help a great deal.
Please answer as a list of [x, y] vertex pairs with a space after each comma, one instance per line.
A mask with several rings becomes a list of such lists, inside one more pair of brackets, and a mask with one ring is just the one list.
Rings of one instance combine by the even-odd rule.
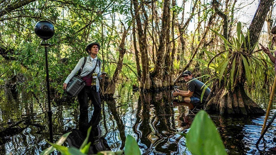
[[43, 40], [47, 40], [53, 37], [55, 29], [51, 22], [39, 21], [35, 25], [35, 33]]

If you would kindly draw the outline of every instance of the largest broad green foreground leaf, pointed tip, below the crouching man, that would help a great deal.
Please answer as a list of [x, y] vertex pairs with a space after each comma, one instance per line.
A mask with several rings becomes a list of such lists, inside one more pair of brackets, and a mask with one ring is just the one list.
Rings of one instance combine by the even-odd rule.
[[215, 124], [203, 110], [193, 120], [186, 139], [193, 155], [227, 155]]

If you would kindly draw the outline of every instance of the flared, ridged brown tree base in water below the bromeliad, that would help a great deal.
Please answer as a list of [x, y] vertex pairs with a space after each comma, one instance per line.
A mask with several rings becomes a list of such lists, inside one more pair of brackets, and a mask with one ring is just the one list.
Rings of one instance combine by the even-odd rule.
[[237, 85], [233, 93], [221, 88], [205, 105], [208, 112], [219, 112], [221, 115], [259, 115], [265, 111], [247, 96], [243, 86]]

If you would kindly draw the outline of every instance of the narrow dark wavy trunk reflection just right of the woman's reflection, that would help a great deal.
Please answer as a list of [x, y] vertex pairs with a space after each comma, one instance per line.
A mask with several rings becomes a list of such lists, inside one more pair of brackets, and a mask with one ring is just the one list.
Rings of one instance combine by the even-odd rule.
[[116, 108], [116, 101], [114, 99], [110, 100], [110, 101], [106, 101], [107, 106], [111, 112], [111, 114], [113, 115], [116, 123], [117, 123], [117, 127], [119, 130], [119, 134], [120, 134], [120, 138], [122, 140], [122, 144], [120, 149], [124, 148], [124, 142], [126, 140], [126, 136], [125, 136], [125, 126], [124, 123], [119, 115], [119, 113], [117, 112], [117, 108]]

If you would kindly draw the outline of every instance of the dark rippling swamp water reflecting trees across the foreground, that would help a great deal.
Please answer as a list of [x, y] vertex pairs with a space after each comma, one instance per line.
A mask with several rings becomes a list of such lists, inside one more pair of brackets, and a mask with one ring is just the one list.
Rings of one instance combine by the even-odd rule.
[[[80, 146], [81, 138], [85, 138], [84, 133], [92, 125], [92, 153], [101, 149], [122, 150], [126, 136], [130, 134], [137, 139], [142, 154], [191, 154], [186, 150], [185, 138], [175, 133], [189, 131], [194, 118], [189, 106], [171, 103], [169, 91], [141, 95], [124, 87], [118, 92], [115, 100], [102, 102], [101, 111], [94, 111], [90, 106], [80, 113], [68, 103], [52, 106], [54, 142], [62, 134], [72, 131], [64, 145]], [[267, 93], [253, 92], [250, 97], [266, 110]], [[276, 112], [275, 101], [273, 103], [270, 117]], [[47, 111], [45, 98], [24, 93], [12, 95], [9, 89], [0, 89], [0, 154], [36, 155], [48, 148], [45, 140], [49, 139]], [[262, 140], [258, 148], [255, 146], [265, 115], [222, 118], [211, 114], [210, 118], [215, 122], [228, 154], [274, 154], [269, 148], [276, 146], [276, 123], [272, 123], [265, 134], [265, 142]]]

